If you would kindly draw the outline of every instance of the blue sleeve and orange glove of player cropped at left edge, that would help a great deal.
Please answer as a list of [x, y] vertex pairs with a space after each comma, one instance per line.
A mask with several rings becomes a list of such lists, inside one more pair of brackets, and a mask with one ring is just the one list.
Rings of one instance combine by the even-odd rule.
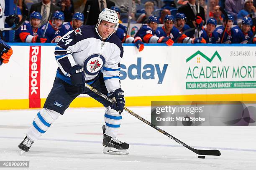
[[13, 54], [13, 50], [6, 42], [0, 38], [0, 65], [7, 64], [9, 62], [10, 56]]

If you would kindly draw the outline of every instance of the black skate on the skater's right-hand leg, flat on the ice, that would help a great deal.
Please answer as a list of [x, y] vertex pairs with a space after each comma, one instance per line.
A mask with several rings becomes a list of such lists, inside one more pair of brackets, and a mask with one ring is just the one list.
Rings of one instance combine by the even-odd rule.
[[112, 138], [105, 134], [106, 127], [105, 125], [102, 126], [103, 130], [103, 153], [105, 154], [112, 154], [112, 155], [128, 155], [129, 144], [124, 143], [117, 138]]

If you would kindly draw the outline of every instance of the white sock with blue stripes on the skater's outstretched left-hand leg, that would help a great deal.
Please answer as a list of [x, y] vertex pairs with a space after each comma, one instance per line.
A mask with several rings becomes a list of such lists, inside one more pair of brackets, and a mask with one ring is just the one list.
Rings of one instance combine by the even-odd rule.
[[60, 115], [54, 110], [43, 108], [37, 113], [32, 126], [28, 129], [27, 137], [33, 141], [38, 140]]

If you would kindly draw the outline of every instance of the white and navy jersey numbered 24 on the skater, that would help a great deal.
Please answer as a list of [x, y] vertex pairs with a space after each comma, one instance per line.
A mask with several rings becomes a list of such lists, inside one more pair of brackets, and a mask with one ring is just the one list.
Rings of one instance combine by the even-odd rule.
[[120, 60], [123, 44], [115, 35], [102, 41], [95, 26], [84, 25], [61, 37], [55, 47], [55, 58], [59, 65], [56, 76], [71, 84], [69, 69], [79, 64], [84, 69], [85, 81], [92, 84], [100, 72], [108, 92], [120, 88]]

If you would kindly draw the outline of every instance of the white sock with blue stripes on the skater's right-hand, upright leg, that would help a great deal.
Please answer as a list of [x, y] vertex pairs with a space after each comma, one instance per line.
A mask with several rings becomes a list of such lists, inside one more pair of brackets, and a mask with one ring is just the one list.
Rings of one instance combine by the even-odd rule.
[[121, 125], [122, 115], [119, 115], [118, 112], [109, 106], [106, 108], [104, 119], [106, 123], [105, 134], [115, 138]]

